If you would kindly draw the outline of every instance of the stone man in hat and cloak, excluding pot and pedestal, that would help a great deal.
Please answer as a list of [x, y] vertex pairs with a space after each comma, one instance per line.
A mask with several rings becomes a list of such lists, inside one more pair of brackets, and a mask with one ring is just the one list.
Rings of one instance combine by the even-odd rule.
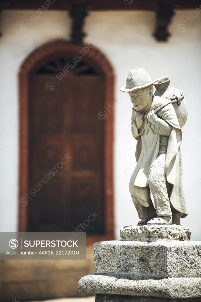
[[138, 225], [179, 224], [180, 218], [187, 216], [182, 185], [181, 128], [171, 101], [153, 95], [153, 84], [157, 81], [152, 81], [144, 69], [137, 68], [129, 72], [126, 86], [121, 88], [128, 92], [133, 104], [131, 131], [138, 140], [137, 165], [129, 184], [141, 219]]

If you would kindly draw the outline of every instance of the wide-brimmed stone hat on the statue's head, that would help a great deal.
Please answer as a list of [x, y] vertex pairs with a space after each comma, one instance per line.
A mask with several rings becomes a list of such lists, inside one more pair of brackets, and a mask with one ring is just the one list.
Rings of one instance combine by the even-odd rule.
[[152, 81], [150, 75], [143, 68], [132, 69], [128, 73], [128, 78], [126, 80], [126, 86], [123, 86], [120, 90], [123, 92], [131, 92], [137, 89], [141, 89], [152, 85], [159, 79]]

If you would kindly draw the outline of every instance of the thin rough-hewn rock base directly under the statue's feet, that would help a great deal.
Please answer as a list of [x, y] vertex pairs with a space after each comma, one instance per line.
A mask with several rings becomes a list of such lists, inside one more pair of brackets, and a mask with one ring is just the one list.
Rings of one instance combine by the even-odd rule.
[[191, 232], [186, 226], [124, 226], [120, 230], [121, 240], [154, 242], [158, 239], [190, 240]]

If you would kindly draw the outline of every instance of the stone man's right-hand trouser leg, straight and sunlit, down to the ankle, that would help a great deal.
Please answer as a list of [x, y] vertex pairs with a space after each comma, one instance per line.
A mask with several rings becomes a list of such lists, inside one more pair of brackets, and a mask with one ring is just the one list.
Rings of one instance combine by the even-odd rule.
[[153, 194], [154, 203], [156, 207], [157, 216], [170, 216], [172, 211], [170, 208], [170, 201], [168, 191], [166, 188], [165, 177], [165, 156], [166, 146], [160, 146], [159, 155], [150, 171], [148, 184]]

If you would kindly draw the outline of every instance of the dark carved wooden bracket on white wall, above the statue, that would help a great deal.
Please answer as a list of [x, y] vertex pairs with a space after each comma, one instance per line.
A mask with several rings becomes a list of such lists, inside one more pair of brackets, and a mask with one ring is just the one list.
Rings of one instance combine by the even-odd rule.
[[156, 29], [153, 34], [154, 37], [156, 37], [156, 40], [167, 41], [170, 36], [168, 25], [174, 14], [172, 1], [159, 1], [158, 9], [156, 11]]

